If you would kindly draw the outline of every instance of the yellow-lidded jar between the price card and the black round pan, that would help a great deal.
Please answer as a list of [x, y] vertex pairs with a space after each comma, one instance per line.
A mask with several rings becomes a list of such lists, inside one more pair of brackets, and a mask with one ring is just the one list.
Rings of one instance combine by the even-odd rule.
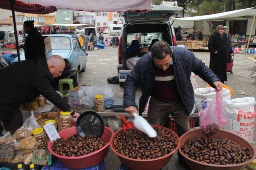
[[70, 111], [61, 111], [58, 121], [58, 131], [62, 131], [64, 129], [71, 127], [71, 119], [72, 116], [70, 115]]

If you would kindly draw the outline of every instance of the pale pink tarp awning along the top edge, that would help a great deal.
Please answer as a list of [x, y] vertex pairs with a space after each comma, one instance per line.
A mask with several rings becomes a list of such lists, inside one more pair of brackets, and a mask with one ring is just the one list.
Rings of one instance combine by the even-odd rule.
[[151, 10], [151, 0], [19, 0], [25, 4], [55, 6], [87, 12]]

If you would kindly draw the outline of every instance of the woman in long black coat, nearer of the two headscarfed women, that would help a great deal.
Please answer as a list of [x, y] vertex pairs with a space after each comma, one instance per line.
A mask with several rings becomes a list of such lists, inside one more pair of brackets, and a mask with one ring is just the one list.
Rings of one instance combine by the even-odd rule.
[[227, 81], [228, 37], [224, 33], [223, 25], [218, 25], [216, 32], [210, 36], [208, 48], [210, 50], [210, 69], [224, 83]]

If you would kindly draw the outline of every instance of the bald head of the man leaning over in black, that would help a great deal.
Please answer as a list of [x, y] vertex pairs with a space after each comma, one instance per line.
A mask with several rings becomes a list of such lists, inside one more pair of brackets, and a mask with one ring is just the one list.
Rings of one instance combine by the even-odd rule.
[[65, 61], [59, 55], [52, 55], [46, 59], [48, 69], [54, 78], [61, 76], [65, 68]]

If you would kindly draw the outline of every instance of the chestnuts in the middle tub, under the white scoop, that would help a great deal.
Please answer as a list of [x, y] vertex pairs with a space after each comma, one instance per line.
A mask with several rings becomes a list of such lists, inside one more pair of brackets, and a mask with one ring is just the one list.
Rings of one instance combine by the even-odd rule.
[[150, 138], [137, 129], [123, 130], [114, 136], [114, 149], [116, 152], [134, 159], [154, 159], [172, 152], [178, 145], [174, 133], [162, 127], [154, 127], [157, 137]]

